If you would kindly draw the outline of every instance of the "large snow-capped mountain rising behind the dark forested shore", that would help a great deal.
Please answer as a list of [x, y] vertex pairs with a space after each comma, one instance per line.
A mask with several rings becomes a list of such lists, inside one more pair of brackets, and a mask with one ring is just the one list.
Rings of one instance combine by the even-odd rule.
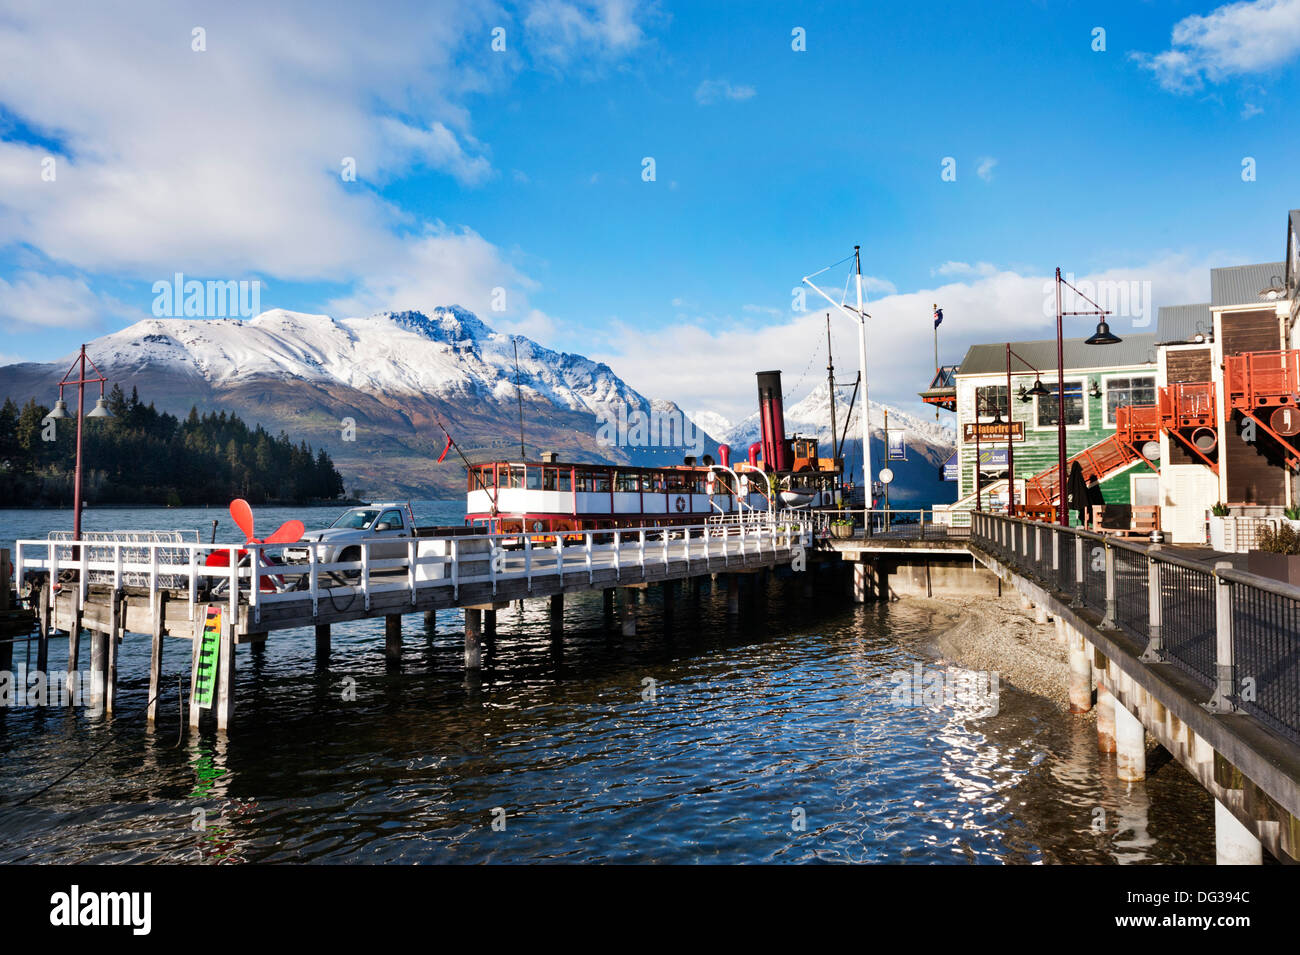
[[[112, 383], [162, 411], [224, 409], [325, 447], [348, 491], [363, 496], [464, 494], [458, 456], [436, 461], [441, 425], [471, 460], [517, 459], [520, 403], [529, 456], [676, 464], [698, 453], [682, 442], [693, 430], [679, 429], [667, 447], [608, 444], [606, 421], [681, 409], [641, 395], [608, 365], [512, 339], [459, 307], [364, 318], [283, 309], [247, 321], [150, 318], [87, 350]], [[0, 369], [0, 400], [49, 404], [72, 360]], [[701, 438], [716, 444], [707, 430]]]

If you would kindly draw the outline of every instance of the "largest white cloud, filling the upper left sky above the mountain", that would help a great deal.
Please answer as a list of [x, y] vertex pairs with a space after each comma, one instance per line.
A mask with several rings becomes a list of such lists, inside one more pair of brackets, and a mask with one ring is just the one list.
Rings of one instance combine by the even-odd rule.
[[[641, 14], [611, 0], [528, 16], [537, 35], [568, 36], [576, 62], [637, 47]], [[394, 0], [364, 27], [356, 17], [306, 1], [6, 9], [0, 104], [60, 146], [44, 182], [49, 149], [0, 142], [0, 247], [36, 249], [39, 269], [91, 286], [174, 272], [329, 281], [354, 286], [339, 299], [358, 307], [459, 301], [490, 316], [485, 290], [503, 286], [506, 321], [536, 325], [504, 253], [376, 191], [413, 172], [462, 187], [494, 175], [459, 100], [493, 84], [476, 56], [510, 16], [490, 1]], [[191, 48], [196, 25], [204, 52]], [[64, 324], [88, 316], [84, 295], [65, 301]]]

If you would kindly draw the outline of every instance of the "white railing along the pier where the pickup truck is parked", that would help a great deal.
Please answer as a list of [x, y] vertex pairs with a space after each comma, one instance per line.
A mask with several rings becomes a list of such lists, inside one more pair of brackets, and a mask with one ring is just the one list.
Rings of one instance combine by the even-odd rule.
[[[307, 547], [307, 560], [290, 564], [277, 556], [286, 544], [18, 541], [14, 572], [18, 581], [29, 574], [60, 581], [73, 572], [61, 586], [74, 589], [78, 609], [84, 608], [92, 582], [114, 590], [142, 586], [151, 595], [168, 590], [183, 598], [191, 620], [198, 605], [217, 602], [226, 603], [233, 617], [246, 607], [250, 625], [256, 625], [263, 608], [282, 603], [311, 600], [316, 617], [321, 599], [337, 603], [360, 596], [369, 611], [377, 595], [399, 591], [408, 592], [415, 605], [428, 589], [450, 589], [459, 599], [463, 586], [490, 583], [495, 595], [502, 582], [525, 581], [532, 591], [536, 581], [547, 577], [581, 576], [590, 583], [602, 569], [612, 569], [615, 581], [644, 579], [649, 569], [668, 569], [673, 563], [703, 560], [710, 570], [720, 570], [745, 556], [776, 555], [811, 542], [812, 522], [806, 515], [560, 535], [412, 538], [400, 556], [385, 554], [391, 541], [363, 541], [358, 560], [333, 563], [318, 560], [315, 546]], [[376, 556], [376, 550], [385, 556]], [[222, 555], [224, 564], [209, 564], [212, 555]], [[255, 579], [257, 586], [252, 586]]]

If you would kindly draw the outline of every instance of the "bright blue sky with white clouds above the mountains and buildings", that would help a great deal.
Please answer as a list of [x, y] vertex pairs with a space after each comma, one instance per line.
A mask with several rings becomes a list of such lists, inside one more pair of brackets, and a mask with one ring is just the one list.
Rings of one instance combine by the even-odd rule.
[[1205, 300], [1300, 205], [1300, 0], [47, 6], [0, 4], [9, 361], [185, 272], [263, 308], [463, 304], [734, 417], [820, 347], [792, 288], [861, 243], [872, 398], [915, 407], [933, 301], [957, 360], [1046, 337], [1056, 265]]

